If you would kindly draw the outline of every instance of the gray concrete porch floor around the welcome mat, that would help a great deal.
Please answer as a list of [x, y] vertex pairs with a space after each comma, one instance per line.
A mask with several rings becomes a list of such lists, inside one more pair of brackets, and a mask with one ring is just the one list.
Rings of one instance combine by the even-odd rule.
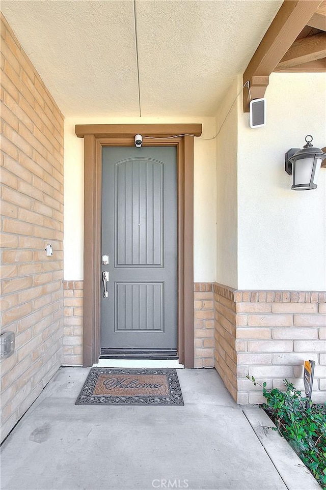
[[178, 370], [184, 407], [75, 406], [88, 372], [61, 368], [6, 439], [3, 490], [287, 488], [214, 369]]

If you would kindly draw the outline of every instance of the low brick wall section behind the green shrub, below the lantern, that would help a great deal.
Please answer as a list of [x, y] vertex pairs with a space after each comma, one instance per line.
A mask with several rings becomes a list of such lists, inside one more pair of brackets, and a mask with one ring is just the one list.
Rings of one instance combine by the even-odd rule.
[[295, 291], [236, 292], [238, 326], [238, 403], [263, 401], [259, 387], [284, 389], [283, 379], [304, 390], [303, 362], [312, 359], [312, 400], [326, 400], [326, 293]]

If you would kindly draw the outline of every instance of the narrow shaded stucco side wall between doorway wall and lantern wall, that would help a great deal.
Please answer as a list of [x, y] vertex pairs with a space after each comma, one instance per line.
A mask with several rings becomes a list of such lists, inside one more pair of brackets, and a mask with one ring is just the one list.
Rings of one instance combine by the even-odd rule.
[[[237, 81], [216, 115], [216, 280], [237, 287]], [[222, 126], [223, 124], [223, 126]]]

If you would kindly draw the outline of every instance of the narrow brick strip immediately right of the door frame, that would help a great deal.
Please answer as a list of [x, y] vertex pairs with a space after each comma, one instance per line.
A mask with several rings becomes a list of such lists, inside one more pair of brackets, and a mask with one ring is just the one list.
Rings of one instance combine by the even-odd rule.
[[214, 367], [214, 297], [212, 284], [194, 284], [195, 367]]

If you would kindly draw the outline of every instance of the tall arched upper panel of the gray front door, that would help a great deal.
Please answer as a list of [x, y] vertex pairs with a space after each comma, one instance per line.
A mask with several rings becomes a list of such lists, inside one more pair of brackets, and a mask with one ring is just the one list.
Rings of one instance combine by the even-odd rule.
[[116, 267], [162, 267], [163, 170], [150, 159], [115, 166]]

